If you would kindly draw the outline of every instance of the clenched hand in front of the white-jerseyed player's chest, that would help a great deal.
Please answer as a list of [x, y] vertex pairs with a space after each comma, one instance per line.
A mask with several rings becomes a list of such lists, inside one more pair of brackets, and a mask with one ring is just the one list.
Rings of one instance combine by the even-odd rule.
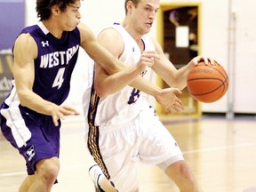
[[151, 66], [154, 65], [154, 61], [159, 59], [160, 57], [156, 51], [144, 51], [137, 63], [137, 67], [140, 68], [142, 72], [146, 70], [146, 68], [151, 68]]

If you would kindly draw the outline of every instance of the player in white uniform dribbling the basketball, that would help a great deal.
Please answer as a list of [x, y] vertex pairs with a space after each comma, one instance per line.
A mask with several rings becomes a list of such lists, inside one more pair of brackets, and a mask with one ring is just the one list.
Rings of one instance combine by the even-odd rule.
[[[213, 64], [212, 59], [197, 56], [185, 67], [179, 70], [174, 68], [172, 62], [164, 57], [161, 46], [148, 36], [156, 19], [159, 0], [125, 0], [124, 5], [124, 21], [104, 28], [98, 37], [100, 44], [116, 59], [132, 66], [139, 60], [141, 52], [156, 50], [160, 59], [155, 60], [151, 68], [170, 87], [180, 90], [186, 87], [188, 72], [200, 60]], [[147, 70], [141, 76], [146, 73]], [[97, 62], [93, 83], [92, 90], [84, 92], [84, 114], [89, 125], [85, 140], [100, 169], [108, 180], [115, 183], [116, 189], [119, 192], [139, 191], [136, 163], [144, 163], [162, 169], [180, 191], [201, 191], [177, 142], [141, 94], [140, 91], [148, 93], [148, 87], [134, 89], [124, 86], [122, 79], [116, 81], [108, 76]], [[170, 92], [170, 89], [165, 91]], [[158, 93], [153, 94], [156, 100], [160, 95]], [[182, 110], [182, 104], [164, 107], [171, 113]]]

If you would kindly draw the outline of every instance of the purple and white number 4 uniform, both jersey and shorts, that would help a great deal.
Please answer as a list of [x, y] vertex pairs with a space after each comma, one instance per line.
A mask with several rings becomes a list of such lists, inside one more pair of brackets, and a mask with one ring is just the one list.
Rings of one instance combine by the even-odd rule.
[[[29, 33], [37, 44], [33, 92], [44, 100], [60, 105], [68, 97], [70, 79], [76, 65], [80, 44], [79, 29], [64, 32], [57, 39], [40, 22], [24, 28], [22, 33]], [[54, 126], [52, 116], [22, 107], [15, 79], [12, 84], [12, 90], [0, 108], [1, 130], [4, 137], [24, 156], [28, 174], [33, 174], [37, 161], [59, 156], [60, 125]]]

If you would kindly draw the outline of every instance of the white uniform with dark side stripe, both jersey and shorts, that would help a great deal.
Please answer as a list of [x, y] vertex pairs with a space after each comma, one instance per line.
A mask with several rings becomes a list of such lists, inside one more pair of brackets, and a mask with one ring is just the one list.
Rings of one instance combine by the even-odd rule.
[[[124, 41], [120, 60], [128, 65], [137, 63], [141, 56], [138, 44], [123, 26], [116, 24], [111, 28], [115, 28]], [[155, 50], [149, 36], [143, 36], [142, 41], [145, 50]], [[149, 108], [142, 92], [130, 86], [106, 98], [99, 98], [93, 86], [92, 90], [88, 88], [84, 92], [84, 113], [88, 120], [84, 137], [87, 148], [120, 192], [139, 188], [137, 163], [156, 164], [165, 172], [170, 164], [184, 160], [154, 108]]]

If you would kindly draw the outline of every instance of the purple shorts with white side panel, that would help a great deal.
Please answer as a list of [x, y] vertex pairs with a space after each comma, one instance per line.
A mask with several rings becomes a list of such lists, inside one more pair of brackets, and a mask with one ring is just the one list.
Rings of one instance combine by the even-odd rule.
[[53, 124], [52, 116], [35, 115], [23, 108], [14, 116], [10, 115], [12, 112], [4, 114], [1, 109], [1, 130], [6, 140], [25, 158], [28, 175], [35, 174], [36, 162], [59, 157], [60, 125]]

